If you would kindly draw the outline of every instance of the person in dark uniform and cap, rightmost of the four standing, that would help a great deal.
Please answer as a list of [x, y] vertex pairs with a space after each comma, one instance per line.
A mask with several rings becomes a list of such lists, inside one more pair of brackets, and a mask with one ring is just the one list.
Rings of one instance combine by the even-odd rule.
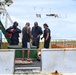
[[50, 36], [51, 35], [51, 31], [48, 28], [48, 25], [46, 23], [43, 24], [43, 27], [44, 27], [44, 34], [43, 34], [42, 38], [44, 38], [44, 48], [49, 48], [50, 39], [51, 39], [51, 36]]

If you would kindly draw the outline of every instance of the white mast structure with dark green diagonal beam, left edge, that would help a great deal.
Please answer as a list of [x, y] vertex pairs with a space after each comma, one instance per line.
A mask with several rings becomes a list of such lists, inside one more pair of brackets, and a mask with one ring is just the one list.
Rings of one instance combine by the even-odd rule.
[[[10, 6], [13, 3], [12, 0], [0, 0], [0, 26], [2, 27], [2, 33], [4, 34], [7, 42], [10, 44], [11, 40], [9, 37], [7, 37], [7, 33], [6, 33], [6, 28], [7, 28], [7, 23], [8, 20], [9, 22], [12, 24], [13, 21], [10, 18], [7, 10], [6, 10], [6, 6]], [[2, 16], [4, 17], [4, 19], [2, 18]]]

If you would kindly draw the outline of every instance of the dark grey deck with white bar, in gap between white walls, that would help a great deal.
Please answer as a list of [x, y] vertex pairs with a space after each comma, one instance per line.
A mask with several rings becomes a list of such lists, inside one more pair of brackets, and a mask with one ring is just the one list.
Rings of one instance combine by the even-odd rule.
[[41, 75], [41, 61], [34, 60], [31, 64], [15, 64], [15, 74]]

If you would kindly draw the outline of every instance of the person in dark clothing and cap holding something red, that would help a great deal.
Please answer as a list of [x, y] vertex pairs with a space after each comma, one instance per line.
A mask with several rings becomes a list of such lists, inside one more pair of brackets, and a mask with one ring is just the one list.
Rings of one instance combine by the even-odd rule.
[[6, 29], [6, 32], [11, 34], [11, 45], [18, 45], [19, 43], [19, 33], [21, 33], [21, 30], [17, 28], [18, 23], [14, 22], [13, 26], [10, 26]]

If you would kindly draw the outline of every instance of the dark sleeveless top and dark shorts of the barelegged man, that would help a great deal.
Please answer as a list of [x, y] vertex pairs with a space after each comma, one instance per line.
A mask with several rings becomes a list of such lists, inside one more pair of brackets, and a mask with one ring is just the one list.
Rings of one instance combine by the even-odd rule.
[[27, 27], [22, 29], [22, 48], [27, 48], [27, 42], [30, 42], [30, 34], [27, 33]]

